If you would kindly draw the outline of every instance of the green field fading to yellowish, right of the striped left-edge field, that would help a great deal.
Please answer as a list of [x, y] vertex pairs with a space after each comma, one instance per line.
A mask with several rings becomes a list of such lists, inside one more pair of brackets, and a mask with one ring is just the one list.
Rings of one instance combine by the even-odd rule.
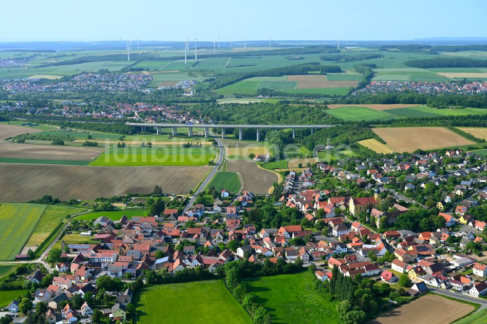
[[25, 245], [40, 245], [42, 242], [44, 242], [44, 240], [46, 240], [46, 238], [48, 238], [48, 236], [53, 232], [56, 226], [59, 225], [59, 223], [61, 223], [65, 217], [84, 211], [86, 211], [86, 209], [62, 206], [47, 206], [46, 210], [40, 217], [39, 222], [34, 229], [34, 232], [30, 236], [27, 243], [25, 243]]

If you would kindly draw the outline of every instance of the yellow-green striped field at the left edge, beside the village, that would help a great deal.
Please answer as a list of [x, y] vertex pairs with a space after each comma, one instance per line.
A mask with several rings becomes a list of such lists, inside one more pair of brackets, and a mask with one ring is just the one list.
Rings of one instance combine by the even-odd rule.
[[13, 260], [36, 228], [47, 205], [0, 205], [0, 260]]

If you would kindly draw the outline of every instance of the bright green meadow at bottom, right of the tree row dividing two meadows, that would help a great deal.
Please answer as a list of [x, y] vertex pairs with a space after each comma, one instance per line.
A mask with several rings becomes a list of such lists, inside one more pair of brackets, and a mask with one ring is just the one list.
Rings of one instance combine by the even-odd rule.
[[316, 277], [309, 272], [273, 277], [244, 278], [248, 291], [257, 296], [274, 323], [342, 323], [335, 302], [315, 290]]

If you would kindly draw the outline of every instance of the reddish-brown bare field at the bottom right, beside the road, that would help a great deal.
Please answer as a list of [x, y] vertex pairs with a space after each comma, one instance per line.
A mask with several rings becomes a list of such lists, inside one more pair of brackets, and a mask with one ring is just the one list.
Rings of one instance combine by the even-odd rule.
[[452, 323], [474, 310], [474, 306], [463, 304], [438, 295], [428, 294], [389, 310], [368, 324], [396, 323]]

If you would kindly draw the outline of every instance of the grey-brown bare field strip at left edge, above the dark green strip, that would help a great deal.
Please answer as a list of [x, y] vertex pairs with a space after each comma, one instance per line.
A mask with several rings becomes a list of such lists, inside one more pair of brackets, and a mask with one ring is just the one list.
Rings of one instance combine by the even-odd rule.
[[103, 147], [0, 143], [0, 157], [62, 161], [92, 161]]

